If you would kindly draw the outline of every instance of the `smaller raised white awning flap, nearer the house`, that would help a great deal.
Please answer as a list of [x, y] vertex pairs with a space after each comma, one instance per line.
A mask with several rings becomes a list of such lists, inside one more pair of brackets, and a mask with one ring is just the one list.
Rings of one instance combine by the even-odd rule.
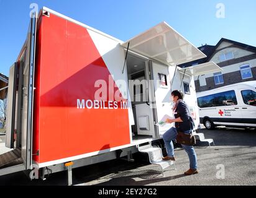
[[203, 64], [198, 64], [196, 66], [190, 66], [190, 67], [185, 67], [183, 69], [180, 69], [181, 72], [184, 72], [185, 70], [186, 70], [185, 72], [186, 74], [190, 74], [194, 76], [223, 71], [223, 69], [217, 66], [217, 64], [214, 62], [205, 62]]

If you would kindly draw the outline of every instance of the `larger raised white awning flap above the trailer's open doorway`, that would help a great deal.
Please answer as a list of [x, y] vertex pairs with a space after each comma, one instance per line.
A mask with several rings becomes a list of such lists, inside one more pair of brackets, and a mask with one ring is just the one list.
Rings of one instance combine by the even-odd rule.
[[150, 28], [121, 45], [135, 53], [176, 66], [185, 62], [206, 58], [198, 48], [176, 32], [166, 22]]

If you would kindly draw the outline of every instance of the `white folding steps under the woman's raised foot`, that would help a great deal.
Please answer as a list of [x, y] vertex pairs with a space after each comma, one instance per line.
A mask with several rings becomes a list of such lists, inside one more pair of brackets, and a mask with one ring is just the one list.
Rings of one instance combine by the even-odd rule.
[[[147, 145], [138, 145], [138, 150], [139, 152], [142, 153], [148, 153], [149, 155], [149, 161], [150, 163], [152, 163], [153, 165], [158, 165], [162, 168], [162, 174], [163, 174], [163, 170], [165, 170], [165, 168], [168, 168], [169, 166], [173, 165], [174, 170], [176, 170], [175, 167], [175, 162], [168, 160], [162, 160], [163, 158], [163, 153], [162, 153], [162, 149], [159, 147], [152, 147], [151, 143], [147, 144]], [[164, 174], [163, 174], [164, 176]]]

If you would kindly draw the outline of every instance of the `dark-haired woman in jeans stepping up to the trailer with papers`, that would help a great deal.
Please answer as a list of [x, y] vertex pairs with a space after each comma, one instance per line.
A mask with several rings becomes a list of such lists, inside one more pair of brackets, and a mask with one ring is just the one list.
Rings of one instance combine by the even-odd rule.
[[[167, 157], [163, 160], [173, 160], [175, 161], [174, 148], [172, 140], [176, 139], [178, 131], [184, 132], [185, 134], [191, 134], [193, 130], [193, 119], [191, 118], [188, 110], [188, 106], [183, 100], [183, 93], [180, 90], [174, 90], [171, 92], [171, 100], [175, 103], [173, 106], [173, 113], [175, 119], [168, 119], [168, 123], [175, 123], [175, 127], [171, 127], [165, 134], [163, 134], [163, 140], [165, 142], [165, 147], [167, 149]], [[188, 158], [190, 158], [190, 169], [186, 171], [185, 175], [196, 174], [197, 170], [197, 157], [196, 152], [194, 152], [193, 146], [181, 144], [183, 149], [188, 153]]]

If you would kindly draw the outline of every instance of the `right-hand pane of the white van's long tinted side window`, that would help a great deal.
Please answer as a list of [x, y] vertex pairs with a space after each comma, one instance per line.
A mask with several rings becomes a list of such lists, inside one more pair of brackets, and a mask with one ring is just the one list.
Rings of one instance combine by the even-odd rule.
[[214, 94], [215, 106], [237, 105], [235, 91], [227, 91]]

